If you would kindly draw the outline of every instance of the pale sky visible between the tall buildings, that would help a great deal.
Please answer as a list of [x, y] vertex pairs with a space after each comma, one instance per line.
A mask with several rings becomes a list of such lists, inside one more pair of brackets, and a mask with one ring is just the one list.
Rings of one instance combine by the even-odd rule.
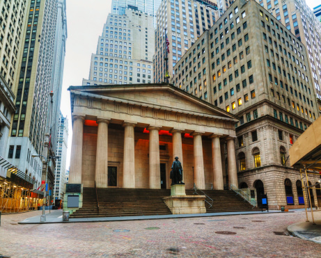
[[[68, 38], [65, 51], [65, 67], [63, 72], [63, 92], [61, 96], [61, 112], [68, 116], [69, 137], [66, 169], [70, 166], [70, 150], [72, 142], [72, 121], [70, 111], [69, 86], [82, 85], [82, 79], [88, 79], [91, 54], [97, 49], [99, 35], [111, 12], [111, 0], [67, 0]], [[306, 0], [312, 9], [321, 4], [320, 0]]]

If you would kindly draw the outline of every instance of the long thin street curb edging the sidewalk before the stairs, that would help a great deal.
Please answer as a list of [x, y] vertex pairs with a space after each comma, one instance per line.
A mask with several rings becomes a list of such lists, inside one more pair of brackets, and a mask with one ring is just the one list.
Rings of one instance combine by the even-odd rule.
[[[295, 212], [295, 211], [288, 211], [288, 212]], [[286, 213], [288, 213], [286, 212]], [[200, 214], [184, 214], [185, 216], [182, 216], [183, 214], [178, 214], [177, 216], [171, 215], [155, 215], [154, 218], [144, 218], [143, 216], [133, 216], [132, 218], [127, 217], [102, 217], [99, 220], [82, 220], [82, 221], [51, 221], [51, 222], [23, 222], [20, 221], [18, 224], [27, 225], [27, 224], [52, 224], [52, 223], [97, 223], [97, 222], [117, 222], [117, 221], [130, 221], [130, 220], [164, 220], [164, 219], [170, 219], [170, 218], [202, 218], [202, 217], [218, 217], [218, 216], [240, 216], [240, 215], [253, 215], [253, 214], [273, 214], [273, 213], [281, 213], [281, 211], [274, 211], [274, 212], [265, 212], [265, 213], [241, 213], [241, 214], [217, 214], [216, 213], [200, 213]], [[284, 212], [282, 212], [284, 213]], [[286, 214], [284, 213], [284, 214]], [[186, 216], [187, 215], [187, 216]], [[202, 216], [200, 216], [202, 215]]]

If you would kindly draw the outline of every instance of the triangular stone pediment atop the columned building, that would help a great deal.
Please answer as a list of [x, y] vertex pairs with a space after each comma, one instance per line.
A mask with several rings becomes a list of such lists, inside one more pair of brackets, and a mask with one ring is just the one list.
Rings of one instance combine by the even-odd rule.
[[109, 97], [130, 101], [136, 105], [154, 108], [171, 108], [173, 111], [214, 115], [221, 118], [237, 119], [217, 106], [213, 106], [169, 84], [141, 84], [126, 86], [71, 86], [70, 90], [80, 90], [94, 97]]

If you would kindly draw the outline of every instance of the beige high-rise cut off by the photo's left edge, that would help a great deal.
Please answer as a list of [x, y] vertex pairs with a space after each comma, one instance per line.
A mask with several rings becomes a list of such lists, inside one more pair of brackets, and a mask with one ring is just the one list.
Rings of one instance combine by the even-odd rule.
[[0, 1], [0, 156], [6, 158], [11, 116], [15, 112], [15, 80], [22, 51], [26, 2]]

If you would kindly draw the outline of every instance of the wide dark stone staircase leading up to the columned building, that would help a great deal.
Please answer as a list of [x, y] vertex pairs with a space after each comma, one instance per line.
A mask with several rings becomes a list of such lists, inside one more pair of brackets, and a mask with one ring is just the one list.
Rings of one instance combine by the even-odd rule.
[[[208, 197], [205, 202], [206, 212], [228, 211], [260, 211], [260, 209], [244, 201], [234, 191], [204, 190]], [[201, 191], [198, 194], [203, 195]], [[186, 190], [187, 195], [193, 195], [194, 190]], [[84, 188], [83, 207], [70, 218], [149, 216], [171, 214], [163, 198], [171, 195], [170, 189], [127, 189], [127, 188]], [[210, 197], [210, 198], [209, 198]], [[212, 199], [213, 202], [210, 200]], [[97, 200], [99, 208], [97, 207]]]

